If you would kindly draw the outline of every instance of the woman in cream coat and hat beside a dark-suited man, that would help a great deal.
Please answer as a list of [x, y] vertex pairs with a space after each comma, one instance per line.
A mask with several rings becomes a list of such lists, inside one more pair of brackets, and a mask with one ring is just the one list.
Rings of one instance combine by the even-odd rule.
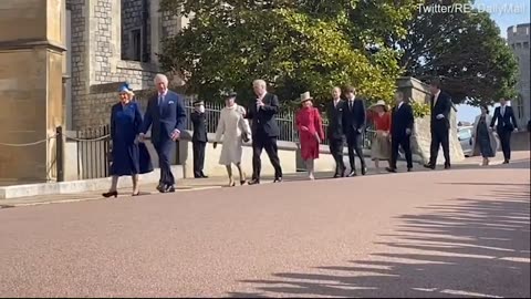
[[244, 118], [246, 110], [236, 104], [236, 93], [230, 94], [225, 100], [226, 106], [221, 110], [221, 115], [218, 122], [218, 128], [216, 130], [216, 142], [221, 142], [223, 147], [221, 148], [221, 155], [219, 157], [219, 164], [227, 167], [227, 174], [229, 176], [229, 186], [236, 186], [232, 178], [232, 164], [238, 167], [240, 174], [240, 184], [246, 184], [246, 174], [241, 169], [241, 154], [243, 142], [249, 142], [251, 136], [251, 128], [249, 123]]

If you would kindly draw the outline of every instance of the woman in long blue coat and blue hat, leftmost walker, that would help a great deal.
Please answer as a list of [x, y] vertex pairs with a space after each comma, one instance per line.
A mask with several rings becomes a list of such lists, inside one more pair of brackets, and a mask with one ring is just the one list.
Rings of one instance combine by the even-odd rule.
[[111, 140], [113, 142], [111, 189], [104, 193], [104, 197], [118, 196], [118, 177], [123, 175], [133, 178], [133, 196], [139, 195], [138, 175], [153, 171], [152, 161], [147, 147], [138, 142], [142, 125], [142, 114], [138, 103], [133, 101], [134, 93], [127, 85], [119, 87], [119, 103], [111, 110]]

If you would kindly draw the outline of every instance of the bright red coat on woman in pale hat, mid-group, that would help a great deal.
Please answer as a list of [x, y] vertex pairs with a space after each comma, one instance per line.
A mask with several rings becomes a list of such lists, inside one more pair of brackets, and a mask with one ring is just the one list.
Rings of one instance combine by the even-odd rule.
[[[314, 107], [303, 107], [296, 113], [295, 117], [296, 128], [299, 130], [299, 137], [301, 141], [301, 156], [302, 159], [319, 157], [319, 142], [324, 140], [323, 120], [319, 110]], [[303, 130], [308, 127], [308, 130]]]

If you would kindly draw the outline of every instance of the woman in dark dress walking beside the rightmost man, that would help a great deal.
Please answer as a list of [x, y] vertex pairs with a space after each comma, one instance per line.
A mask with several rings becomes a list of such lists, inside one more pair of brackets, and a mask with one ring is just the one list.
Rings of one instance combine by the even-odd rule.
[[483, 166], [489, 165], [489, 157], [494, 157], [498, 151], [498, 138], [489, 126], [491, 120], [489, 109], [481, 105], [481, 114], [476, 116], [473, 122], [472, 156], [481, 154]]

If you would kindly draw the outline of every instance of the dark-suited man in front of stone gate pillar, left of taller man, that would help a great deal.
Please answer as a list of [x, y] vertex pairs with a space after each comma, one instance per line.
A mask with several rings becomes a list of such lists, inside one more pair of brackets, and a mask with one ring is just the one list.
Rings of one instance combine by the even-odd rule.
[[404, 102], [404, 93], [395, 93], [396, 105], [391, 112], [391, 167], [387, 172], [396, 173], [396, 161], [398, 158], [398, 147], [402, 146], [406, 154], [407, 171], [413, 168], [412, 147], [409, 137], [413, 132], [413, 124], [415, 122], [413, 109], [409, 103]]

